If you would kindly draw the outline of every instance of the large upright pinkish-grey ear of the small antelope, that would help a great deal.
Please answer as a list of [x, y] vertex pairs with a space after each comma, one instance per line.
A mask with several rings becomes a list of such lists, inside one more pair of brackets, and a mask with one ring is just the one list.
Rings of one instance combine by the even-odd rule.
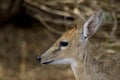
[[100, 10], [94, 15], [92, 15], [84, 24], [83, 26], [83, 37], [85, 39], [88, 39], [90, 36], [92, 36], [98, 27], [101, 25], [103, 20], [103, 11]]

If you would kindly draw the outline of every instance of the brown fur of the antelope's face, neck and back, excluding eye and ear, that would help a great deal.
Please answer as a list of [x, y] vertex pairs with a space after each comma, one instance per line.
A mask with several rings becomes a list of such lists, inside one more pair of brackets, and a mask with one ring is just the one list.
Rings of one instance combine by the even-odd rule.
[[[81, 40], [83, 38], [81, 35], [82, 29], [74, 28], [65, 32], [41, 56], [41, 63], [54, 60], [55, 63], [53, 61], [49, 64], [70, 64], [76, 80], [120, 80], [120, 59], [99, 61], [93, 55], [88, 40]], [[69, 44], [65, 49], [59, 49], [59, 43], [63, 40]]]

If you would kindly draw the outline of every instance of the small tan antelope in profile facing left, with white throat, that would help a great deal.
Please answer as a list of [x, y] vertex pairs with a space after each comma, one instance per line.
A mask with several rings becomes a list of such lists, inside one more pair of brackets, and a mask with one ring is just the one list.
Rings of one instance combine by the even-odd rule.
[[[53, 46], [38, 57], [41, 64], [70, 64], [76, 80], [120, 80], [117, 66], [100, 62], [92, 53], [89, 38], [96, 32], [103, 20], [103, 11], [92, 15], [80, 29], [74, 27], [65, 32]], [[101, 35], [102, 36], [102, 35]]]

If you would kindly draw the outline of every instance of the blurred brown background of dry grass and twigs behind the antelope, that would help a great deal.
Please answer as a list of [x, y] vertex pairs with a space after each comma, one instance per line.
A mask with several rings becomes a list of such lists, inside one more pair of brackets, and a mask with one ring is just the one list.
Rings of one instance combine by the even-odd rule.
[[69, 66], [36, 58], [100, 9], [104, 22], [90, 41], [95, 56], [108, 60], [120, 54], [120, 0], [0, 0], [0, 80], [75, 80]]

